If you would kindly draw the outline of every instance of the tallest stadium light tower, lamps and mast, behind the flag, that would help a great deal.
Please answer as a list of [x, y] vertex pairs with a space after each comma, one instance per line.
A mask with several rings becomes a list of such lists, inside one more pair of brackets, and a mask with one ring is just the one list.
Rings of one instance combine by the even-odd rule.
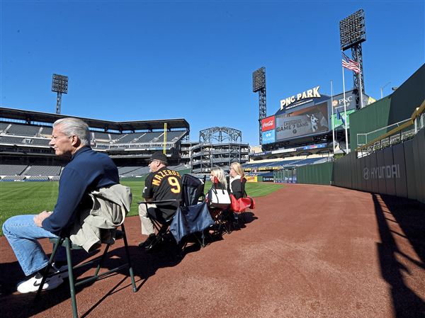
[[361, 42], [366, 40], [365, 12], [363, 9], [347, 16], [339, 21], [339, 38], [341, 40], [341, 51], [351, 48], [353, 60], [358, 62], [360, 72], [353, 72], [354, 95], [356, 96], [356, 108], [361, 108], [361, 95], [365, 92], [363, 76], [363, 55]]

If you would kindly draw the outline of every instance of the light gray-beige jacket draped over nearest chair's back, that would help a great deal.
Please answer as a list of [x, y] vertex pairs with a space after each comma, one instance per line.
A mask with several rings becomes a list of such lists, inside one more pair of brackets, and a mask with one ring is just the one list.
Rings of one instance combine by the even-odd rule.
[[132, 200], [131, 189], [120, 184], [92, 191], [89, 195], [93, 207], [78, 212], [69, 237], [72, 244], [82, 246], [88, 252], [97, 249], [101, 243], [115, 242], [115, 229], [123, 224]]

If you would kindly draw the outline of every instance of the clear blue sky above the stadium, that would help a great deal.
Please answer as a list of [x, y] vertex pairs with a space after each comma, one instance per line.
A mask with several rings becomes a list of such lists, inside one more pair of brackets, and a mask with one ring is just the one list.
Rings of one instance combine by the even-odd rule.
[[[1, 106], [62, 114], [185, 118], [259, 143], [251, 74], [266, 67], [267, 115], [314, 86], [342, 92], [339, 21], [363, 8], [365, 92], [380, 98], [425, 62], [424, 1], [4, 1]], [[352, 86], [346, 72], [346, 89]]]

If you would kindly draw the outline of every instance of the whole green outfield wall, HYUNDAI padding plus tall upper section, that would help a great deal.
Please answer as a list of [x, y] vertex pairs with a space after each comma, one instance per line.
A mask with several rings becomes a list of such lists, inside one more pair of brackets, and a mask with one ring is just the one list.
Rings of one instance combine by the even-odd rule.
[[[333, 184], [425, 203], [425, 128], [411, 140], [357, 157], [357, 135], [412, 118], [425, 100], [425, 64], [392, 95], [350, 115], [351, 152], [333, 164], [297, 168], [297, 183]], [[393, 127], [380, 130], [380, 137]], [[370, 142], [370, 140], [368, 140]]]

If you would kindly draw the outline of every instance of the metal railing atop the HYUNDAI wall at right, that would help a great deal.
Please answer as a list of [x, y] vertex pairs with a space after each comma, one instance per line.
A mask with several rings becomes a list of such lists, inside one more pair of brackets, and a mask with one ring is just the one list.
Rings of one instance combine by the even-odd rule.
[[[421, 106], [416, 108], [414, 112], [412, 113], [411, 118], [407, 120], [402, 120], [399, 123], [393, 124], [397, 125], [394, 129], [390, 130], [389, 132], [386, 132], [383, 135], [380, 135], [379, 137], [376, 137], [374, 140], [367, 142], [365, 144], [361, 144], [356, 148], [356, 151], [358, 152], [358, 157], [367, 156], [368, 154], [383, 149], [385, 147], [390, 147], [393, 144], [398, 144], [399, 142], [402, 142], [403, 140], [408, 140], [416, 133], [424, 128], [425, 126], [425, 100], [421, 103]], [[388, 129], [389, 127], [393, 126], [387, 126], [380, 128], [379, 130]], [[371, 133], [376, 133], [379, 130], [374, 130]], [[366, 135], [366, 134], [358, 134], [359, 135]], [[358, 137], [357, 137], [358, 138]]]

